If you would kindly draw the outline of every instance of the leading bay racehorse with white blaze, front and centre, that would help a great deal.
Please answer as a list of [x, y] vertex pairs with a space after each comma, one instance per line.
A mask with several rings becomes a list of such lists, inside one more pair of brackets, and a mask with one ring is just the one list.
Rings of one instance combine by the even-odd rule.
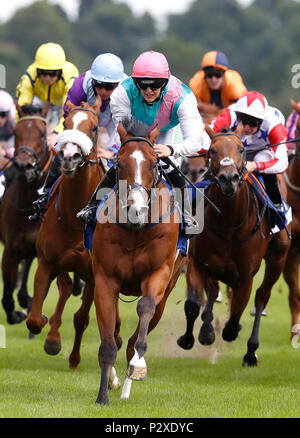
[[118, 127], [122, 144], [117, 156], [117, 184], [99, 213], [92, 249], [101, 337], [101, 383], [96, 402], [104, 405], [109, 404], [108, 378], [117, 355], [114, 328], [119, 293], [142, 297], [137, 304], [138, 327], [127, 344], [128, 370], [121, 395], [126, 399], [132, 379], [146, 377], [147, 333], [158, 324], [185, 262], [181, 254], [176, 258], [179, 216], [160, 179], [153, 149], [159, 129], [149, 133], [138, 123], [123, 123]]

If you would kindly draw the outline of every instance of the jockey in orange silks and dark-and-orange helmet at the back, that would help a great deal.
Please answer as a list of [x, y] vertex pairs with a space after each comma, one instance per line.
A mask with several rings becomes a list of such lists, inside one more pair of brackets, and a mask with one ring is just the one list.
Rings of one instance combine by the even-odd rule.
[[227, 57], [216, 50], [203, 56], [201, 70], [191, 78], [189, 87], [196, 96], [199, 112], [215, 115], [247, 92], [240, 74], [229, 69]]

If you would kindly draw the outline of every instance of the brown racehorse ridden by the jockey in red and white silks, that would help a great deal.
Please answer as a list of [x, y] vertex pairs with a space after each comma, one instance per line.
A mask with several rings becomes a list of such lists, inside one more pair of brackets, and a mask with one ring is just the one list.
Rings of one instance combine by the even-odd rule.
[[177, 342], [184, 349], [192, 348], [193, 327], [199, 315], [204, 288], [207, 302], [201, 315], [203, 324], [198, 339], [204, 345], [214, 342], [212, 321], [217, 280], [232, 289], [230, 316], [222, 337], [229, 342], [235, 340], [241, 328], [240, 318], [251, 294], [253, 277], [265, 257], [264, 279], [255, 296], [254, 325], [243, 358], [243, 365], [255, 366], [261, 313], [273, 285], [283, 272], [290, 240], [285, 229], [274, 236], [270, 234], [266, 208], [259, 203], [246, 181], [245, 151], [239, 137], [242, 127], [238, 127], [235, 133], [214, 134], [210, 128], [207, 131], [212, 140], [209, 149], [211, 183], [206, 195], [219, 207], [221, 214], [207, 204], [204, 231], [191, 240], [185, 302], [187, 329]]

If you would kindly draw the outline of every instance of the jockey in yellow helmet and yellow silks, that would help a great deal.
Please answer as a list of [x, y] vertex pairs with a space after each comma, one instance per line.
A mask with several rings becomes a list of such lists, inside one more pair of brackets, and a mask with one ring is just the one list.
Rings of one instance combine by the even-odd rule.
[[[74, 79], [79, 75], [77, 67], [66, 61], [64, 49], [55, 43], [42, 44], [36, 51], [35, 60], [21, 76], [16, 97], [20, 106], [32, 104], [43, 107], [51, 103], [47, 115], [53, 132], [47, 137], [49, 148], [56, 143], [56, 135], [63, 131], [62, 107]], [[16, 114], [16, 121], [18, 114]]]

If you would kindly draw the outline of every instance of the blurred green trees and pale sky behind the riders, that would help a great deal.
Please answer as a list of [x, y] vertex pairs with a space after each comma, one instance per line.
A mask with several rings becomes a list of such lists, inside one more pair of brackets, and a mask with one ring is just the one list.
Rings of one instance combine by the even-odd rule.
[[187, 84], [200, 70], [204, 53], [219, 50], [242, 75], [248, 90], [265, 94], [286, 117], [291, 112], [290, 98], [300, 100], [300, 88], [295, 87], [297, 82], [300, 87], [300, 77], [292, 86], [293, 66], [299, 64], [300, 72], [299, 1], [148, 0], [143, 8], [144, 3], [25, 0], [2, 5], [0, 64], [6, 68], [7, 91], [15, 95], [36, 49], [56, 42], [80, 73], [98, 54], [112, 52], [122, 58], [130, 75], [141, 52], [160, 51], [172, 74]]

